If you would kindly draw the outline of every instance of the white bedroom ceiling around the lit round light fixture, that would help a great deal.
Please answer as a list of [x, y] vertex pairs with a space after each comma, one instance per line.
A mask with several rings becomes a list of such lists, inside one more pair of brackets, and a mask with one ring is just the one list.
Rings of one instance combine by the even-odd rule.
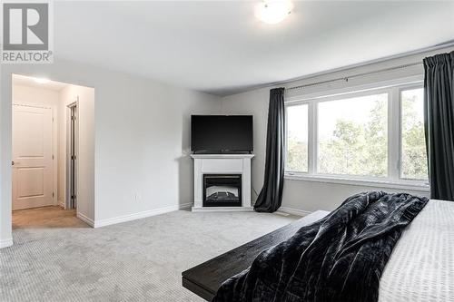
[[454, 1], [55, 2], [55, 56], [219, 95], [454, 40]]

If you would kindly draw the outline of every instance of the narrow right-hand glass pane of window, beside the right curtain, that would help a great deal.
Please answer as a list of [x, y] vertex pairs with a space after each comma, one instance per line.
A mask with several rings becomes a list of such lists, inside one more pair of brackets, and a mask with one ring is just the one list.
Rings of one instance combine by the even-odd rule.
[[402, 179], [428, 179], [423, 93], [422, 88], [400, 92], [402, 121], [400, 177]]

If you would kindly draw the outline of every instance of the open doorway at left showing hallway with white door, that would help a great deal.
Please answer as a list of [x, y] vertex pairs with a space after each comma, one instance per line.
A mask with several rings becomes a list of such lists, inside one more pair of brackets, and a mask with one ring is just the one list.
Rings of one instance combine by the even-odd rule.
[[[86, 198], [84, 192], [91, 190], [94, 183], [84, 183], [84, 199], [82, 203], [79, 200], [79, 166], [94, 157], [94, 153], [86, 151], [93, 146], [94, 137], [86, 131], [93, 129], [84, 127], [84, 133], [79, 132], [80, 95], [85, 106], [83, 117], [90, 120], [94, 116], [93, 88], [13, 75], [14, 229], [79, 227], [93, 215], [94, 200]], [[82, 163], [81, 136], [85, 148]]]

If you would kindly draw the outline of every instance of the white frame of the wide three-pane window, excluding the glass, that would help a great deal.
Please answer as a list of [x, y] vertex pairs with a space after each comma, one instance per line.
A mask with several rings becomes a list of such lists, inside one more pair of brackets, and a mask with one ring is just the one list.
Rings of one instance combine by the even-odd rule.
[[[376, 83], [356, 87], [343, 88], [338, 91], [312, 93], [285, 98], [285, 156], [287, 155], [287, 108], [290, 106], [308, 104], [308, 171], [287, 170], [285, 158], [284, 176], [290, 180], [308, 180], [317, 182], [341, 183], [350, 185], [370, 186], [378, 188], [424, 190], [429, 191], [429, 180], [409, 180], [401, 178], [401, 92], [423, 88], [420, 77], [400, 79], [388, 83]], [[317, 171], [319, 164], [319, 112], [321, 102], [339, 101], [353, 97], [388, 93], [388, 175], [372, 177], [348, 174], [323, 174]]]

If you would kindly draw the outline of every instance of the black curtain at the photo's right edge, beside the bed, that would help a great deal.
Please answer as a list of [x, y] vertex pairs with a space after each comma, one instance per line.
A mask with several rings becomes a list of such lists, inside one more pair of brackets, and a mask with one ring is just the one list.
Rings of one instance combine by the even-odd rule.
[[424, 59], [430, 198], [454, 200], [454, 52]]

